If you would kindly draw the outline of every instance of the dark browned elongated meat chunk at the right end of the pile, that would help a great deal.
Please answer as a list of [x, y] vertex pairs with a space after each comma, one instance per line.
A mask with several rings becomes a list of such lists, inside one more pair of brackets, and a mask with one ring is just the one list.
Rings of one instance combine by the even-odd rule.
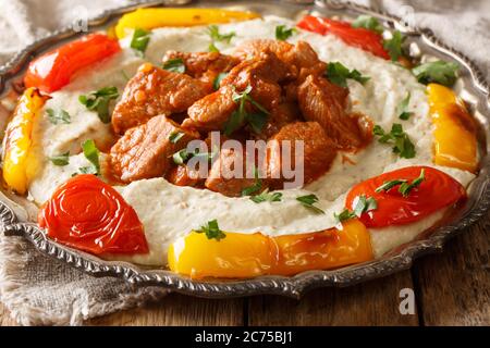
[[318, 122], [339, 149], [355, 150], [366, 142], [359, 119], [346, 112], [348, 89], [310, 75], [297, 95], [305, 119]]

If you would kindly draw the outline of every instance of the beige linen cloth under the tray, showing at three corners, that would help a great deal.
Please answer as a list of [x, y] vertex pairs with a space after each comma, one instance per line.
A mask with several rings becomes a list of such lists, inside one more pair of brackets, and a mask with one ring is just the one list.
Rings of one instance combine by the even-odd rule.
[[[0, 64], [36, 38], [70, 25], [81, 13], [128, 4], [124, 0], [0, 0]], [[490, 72], [490, 1], [359, 1], [430, 27]], [[158, 300], [166, 291], [95, 278], [0, 235], [0, 299], [22, 325], [78, 325], [84, 320]]]

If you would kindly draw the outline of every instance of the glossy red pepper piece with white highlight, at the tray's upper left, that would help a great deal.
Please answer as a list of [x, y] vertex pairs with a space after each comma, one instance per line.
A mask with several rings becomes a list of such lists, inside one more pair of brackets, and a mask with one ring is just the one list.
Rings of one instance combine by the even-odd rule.
[[24, 76], [26, 87], [53, 92], [68, 85], [79, 70], [121, 50], [117, 40], [103, 34], [90, 34], [63, 45], [30, 62]]

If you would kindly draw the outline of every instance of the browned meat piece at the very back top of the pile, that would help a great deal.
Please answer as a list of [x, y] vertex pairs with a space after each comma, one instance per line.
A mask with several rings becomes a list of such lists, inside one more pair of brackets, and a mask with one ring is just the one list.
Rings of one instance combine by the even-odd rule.
[[236, 49], [238, 57], [257, 57], [264, 52], [274, 53], [290, 69], [290, 74], [302, 82], [308, 75], [323, 74], [327, 64], [319, 60], [318, 54], [305, 41], [293, 46], [285, 41], [257, 39], [250, 40]]

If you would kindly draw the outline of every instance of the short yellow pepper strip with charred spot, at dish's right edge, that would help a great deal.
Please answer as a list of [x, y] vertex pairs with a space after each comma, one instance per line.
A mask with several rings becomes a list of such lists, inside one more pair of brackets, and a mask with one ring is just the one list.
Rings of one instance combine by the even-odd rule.
[[434, 125], [433, 162], [475, 172], [478, 166], [478, 144], [471, 115], [450, 88], [430, 84], [427, 92]]

